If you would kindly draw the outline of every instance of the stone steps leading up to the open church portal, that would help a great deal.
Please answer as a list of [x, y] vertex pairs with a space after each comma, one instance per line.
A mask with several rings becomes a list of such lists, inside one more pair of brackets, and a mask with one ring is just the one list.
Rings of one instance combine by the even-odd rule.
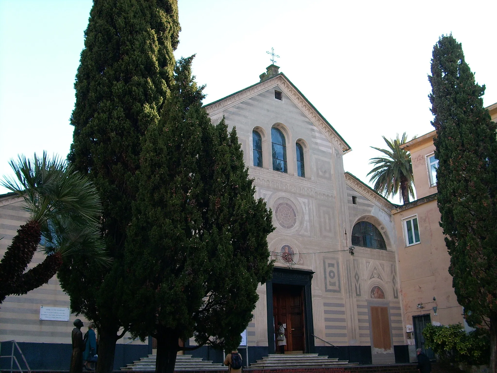
[[348, 361], [330, 359], [318, 354], [271, 354], [250, 364], [250, 369], [296, 369], [296, 368], [335, 368], [353, 367], [357, 364], [349, 364]]

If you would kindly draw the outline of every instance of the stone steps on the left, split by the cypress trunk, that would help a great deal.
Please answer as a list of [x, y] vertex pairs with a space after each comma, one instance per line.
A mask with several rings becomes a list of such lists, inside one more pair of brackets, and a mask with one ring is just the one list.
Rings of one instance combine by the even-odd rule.
[[[128, 364], [121, 371], [135, 372], [155, 372], [156, 355], [149, 355], [146, 358], [141, 358], [139, 361]], [[178, 355], [176, 357], [175, 371], [228, 371], [228, 367], [222, 364], [214, 364], [211, 361], [203, 361], [202, 358], [192, 358], [191, 355]]]

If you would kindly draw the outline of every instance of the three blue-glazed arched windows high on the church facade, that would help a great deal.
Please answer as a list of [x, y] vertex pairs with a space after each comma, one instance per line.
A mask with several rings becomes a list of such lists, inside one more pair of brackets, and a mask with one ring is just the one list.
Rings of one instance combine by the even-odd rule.
[[[262, 167], [262, 137], [257, 131], [252, 131], [253, 143], [253, 165]], [[297, 175], [305, 178], [304, 148], [298, 142], [295, 143], [297, 158]], [[283, 132], [278, 128], [271, 128], [271, 153], [273, 170], [288, 174], [288, 163], [286, 159], [286, 139]]]

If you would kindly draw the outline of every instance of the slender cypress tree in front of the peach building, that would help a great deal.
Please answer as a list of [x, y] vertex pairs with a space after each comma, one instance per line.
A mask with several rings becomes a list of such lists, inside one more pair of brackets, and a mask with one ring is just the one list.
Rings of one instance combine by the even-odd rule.
[[496, 372], [497, 126], [483, 107], [485, 86], [475, 83], [452, 35], [435, 44], [429, 81], [449, 273], [468, 323], [490, 326], [491, 371]]

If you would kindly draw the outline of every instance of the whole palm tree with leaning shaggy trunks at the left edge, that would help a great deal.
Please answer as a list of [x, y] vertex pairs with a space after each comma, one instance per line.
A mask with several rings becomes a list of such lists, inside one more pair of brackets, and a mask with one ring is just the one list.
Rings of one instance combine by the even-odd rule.
[[[19, 156], [10, 166], [15, 177], [1, 184], [24, 199], [29, 219], [0, 261], [0, 303], [7, 295], [26, 294], [47, 283], [65, 256], [86, 255], [108, 264], [99, 232], [102, 207], [93, 185], [65, 161], [47, 159], [45, 152], [34, 160]], [[25, 272], [38, 248], [45, 260]]]

